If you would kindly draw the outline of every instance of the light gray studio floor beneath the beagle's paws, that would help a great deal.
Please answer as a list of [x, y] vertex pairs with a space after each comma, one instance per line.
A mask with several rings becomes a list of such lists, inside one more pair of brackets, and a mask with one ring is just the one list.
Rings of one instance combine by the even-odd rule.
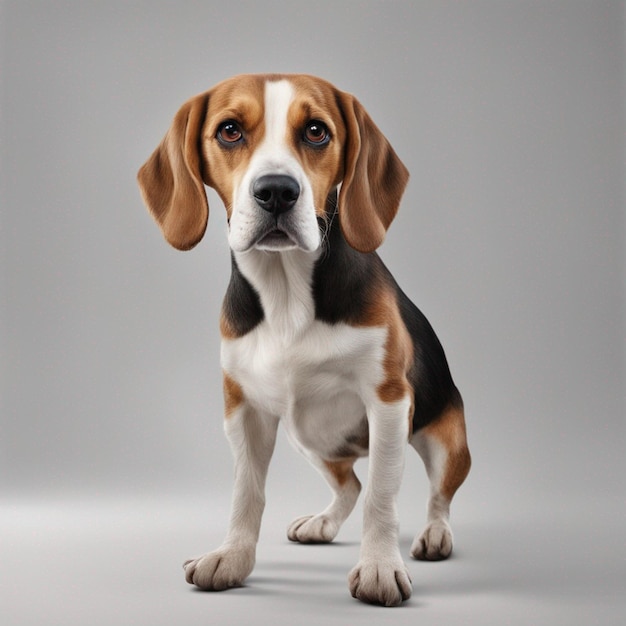
[[[400, 608], [383, 609], [353, 600], [347, 589], [347, 573], [358, 557], [357, 514], [335, 544], [300, 546], [285, 536], [289, 507], [268, 506], [257, 565], [246, 586], [206, 593], [185, 583], [181, 564], [217, 547], [226, 502], [6, 498], [0, 506], [1, 621], [4, 626], [623, 624], [620, 507], [591, 502], [580, 510], [564, 504], [544, 518], [461, 514], [453, 558], [407, 559], [413, 597]], [[413, 530], [403, 519], [401, 548], [407, 557]]]

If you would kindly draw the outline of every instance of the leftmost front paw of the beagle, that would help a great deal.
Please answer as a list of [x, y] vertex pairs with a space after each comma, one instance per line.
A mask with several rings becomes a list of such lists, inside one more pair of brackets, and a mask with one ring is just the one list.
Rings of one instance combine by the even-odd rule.
[[254, 567], [254, 548], [222, 546], [183, 565], [185, 579], [205, 591], [241, 587]]

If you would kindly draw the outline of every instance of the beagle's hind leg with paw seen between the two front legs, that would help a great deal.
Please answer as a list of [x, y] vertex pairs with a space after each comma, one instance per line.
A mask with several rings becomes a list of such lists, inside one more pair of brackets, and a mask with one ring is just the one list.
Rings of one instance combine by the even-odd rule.
[[333, 500], [321, 513], [295, 519], [287, 529], [287, 537], [300, 543], [329, 543], [352, 512], [361, 491], [361, 483], [353, 470], [357, 457], [325, 461], [307, 456], [326, 478]]

